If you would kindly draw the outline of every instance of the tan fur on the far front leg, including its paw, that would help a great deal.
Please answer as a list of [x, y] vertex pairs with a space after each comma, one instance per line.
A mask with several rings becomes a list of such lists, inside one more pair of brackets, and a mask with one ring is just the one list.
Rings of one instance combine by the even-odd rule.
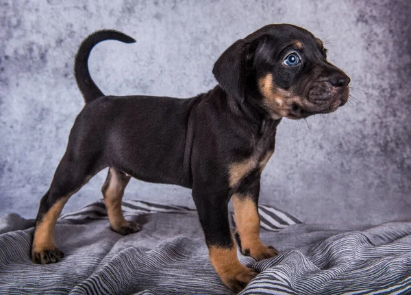
[[248, 249], [249, 255], [257, 260], [277, 255], [274, 248], [269, 248], [260, 240], [260, 216], [258, 216], [258, 208], [251, 196], [234, 194], [232, 200], [236, 233], [240, 235], [242, 251], [245, 252]]

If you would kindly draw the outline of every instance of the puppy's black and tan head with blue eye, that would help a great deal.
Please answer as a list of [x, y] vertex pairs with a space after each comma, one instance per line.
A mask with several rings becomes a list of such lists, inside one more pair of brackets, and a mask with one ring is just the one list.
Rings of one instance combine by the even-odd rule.
[[295, 25], [267, 25], [236, 41], [213, 68], [220, 86], [272, 118], [334, 112], [349, 97], [349, 77], [327, 62], [323, 42]]

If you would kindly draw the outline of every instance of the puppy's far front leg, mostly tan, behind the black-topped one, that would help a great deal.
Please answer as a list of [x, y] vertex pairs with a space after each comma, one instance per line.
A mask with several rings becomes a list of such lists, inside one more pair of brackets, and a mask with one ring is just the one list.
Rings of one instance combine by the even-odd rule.
[[251, 185], [232, 196], [238, 246], [242, 254], [257, 261], [278, 255], [273, 246], [266, 246], [260, 240], [259, 196], [260, 176]]

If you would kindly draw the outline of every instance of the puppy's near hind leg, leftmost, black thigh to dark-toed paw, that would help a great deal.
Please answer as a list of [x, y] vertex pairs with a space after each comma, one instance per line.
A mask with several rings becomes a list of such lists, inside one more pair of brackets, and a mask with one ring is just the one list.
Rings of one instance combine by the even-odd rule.
[[32, 243], [32, 259], [36, 264], [50, 264], [63, 257], [54, 242], [54, 229], [58, 216], [70, 196], [75, 194], [99, 170], [96, 162], [88, 165], [66, 152], [55, 170], [49, 191], [42, 197], [36, 218]]

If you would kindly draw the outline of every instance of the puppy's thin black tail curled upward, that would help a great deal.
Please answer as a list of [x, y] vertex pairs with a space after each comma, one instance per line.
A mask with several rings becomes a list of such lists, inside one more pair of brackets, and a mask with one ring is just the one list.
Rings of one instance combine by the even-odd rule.
[[86, 103], [90, 103], [90, 101], [104, 95], [95, 82], [92, 81], [90, 72], [88, 71], [88, 57], [90, 56], [92, 47], [95, 47], [95, 44], [104, 40], [119, 40], [124, 43], [136, 42], [132, 37], [112, 29], [96, 31], [82, 42], [75, 56], [74, 75], [77, 86], [79, 86], [79, 90], [82, 92]]

